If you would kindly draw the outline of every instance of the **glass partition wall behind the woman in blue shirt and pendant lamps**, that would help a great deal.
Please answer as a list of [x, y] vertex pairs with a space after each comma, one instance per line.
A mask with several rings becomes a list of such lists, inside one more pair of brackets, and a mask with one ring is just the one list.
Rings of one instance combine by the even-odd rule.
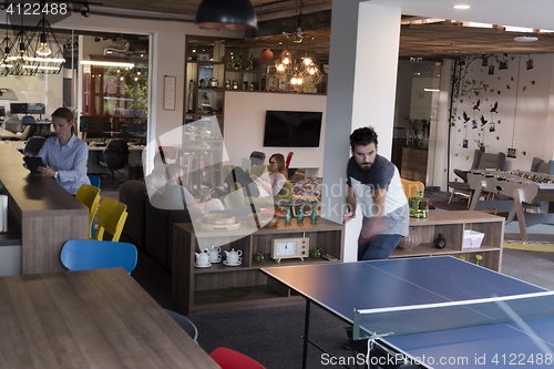
[[[65, 62], [58, 72], [12, 75], [0, 66], [0, 120], [38, 121], [66, 106], [74, 112], [85, 140], [126, 139], [145, 143], [148, 126], [148, 41], [146, 34], [53, 30]], [[17, 29], [0, 25], [0, 37], [11, 42]], [[0, 54], [3, 57], [4, 44]], [[9, 92], [8, 92], [9, 91]], [[44, 110], [21, 112], [21, 104], [43, 104]], [[2, 109], [3, 107], [3, 109]]]

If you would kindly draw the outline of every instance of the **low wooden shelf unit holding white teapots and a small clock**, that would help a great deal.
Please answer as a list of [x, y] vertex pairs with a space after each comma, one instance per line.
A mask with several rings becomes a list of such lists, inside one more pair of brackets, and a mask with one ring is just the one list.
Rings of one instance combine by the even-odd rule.
[[[318, 219], [316, 225], [297, 225], [296, 221], [289, 226], [279, 219], [277, 227], [266, 227], [252, 233], [255, 228], [243, 222], [238, 230], [218, 234], [195, 229], [192, 224], [176, 224], [173, 230], [172, 259], [172, 297], [185, 314], [225, 311], [255, 307], [286, 305], [301, 301], [299, 296], [290, 294], [288, 288], [271, 281], [259, 268], [283, 265], [298, 265], [309, 263], [336, 263], [325, 259], [284, 259], [277, 263], [269, 258], [271, 240], [274, 238], [308, 237], [310, 248], [321, 248], [324, 254], [330, 254], [342, 260], [343, 226], [326, 219]], [[224, 250], [232, 248], [243, 252], [243, 264], [238, 267], [225, 266], [223, 263], [212, 264], [209, 268], [196, 268], [195, 253], [199, 252], [197, 238], [213, 238], [223, 236], [242, 237], [222, 246]], [[255, 264], [253, 255], [257, 252], [266, 254], [266, 262]], [[222, 255], [225, 259], [225, 255]], [[222, 295], [228, 288], [237, 287], [249, 295], [246, 297], [228, 297]]]

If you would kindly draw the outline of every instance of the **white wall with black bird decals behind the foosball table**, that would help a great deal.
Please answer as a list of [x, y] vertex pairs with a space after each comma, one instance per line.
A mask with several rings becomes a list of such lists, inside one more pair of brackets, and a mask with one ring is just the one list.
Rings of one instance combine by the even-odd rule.
[[[503, 59], [502, 55], [497, 57]], [[525, 66], [529, 58], [533, 59], [532, 70]], [[458, 100], [455, 114], [458, 119], [451, 132], [452, 170], [464, 170], [471, 166], [473, 152], [478, 148], [475, 140], [480, 140], [483, 135], [488, 153], [507, 154], [509, 147], [517, 148], [516, 158], [506, 157], [506, 170], [529, 171], [534, 156], [546, 161], [554, 158], [554, 142], [552, 141], [554, 134], [554, 124], [552, 124], [554, 54], [509, 54], [507, 61], [509, 68], [505, 70], [499, 70], [497, 63], [494, 62], [493, 75], [488, 73], [486, 66], [481, 66], [479, 59], [471, 64], [466, 79], [483, 81], [489, 88], [479, 95], [470, 93]], [[519, 85], [517, 69], [520, 69]], [[480, 100], [480, 111], [473, 110], [478, 100]], [[499, 103], [497, 113], [491, 114], [491, 107], [496, 102]], [[471, 127], [471, 120], [468, 122], [469, 126], [464, 126], [463, 112], [471, 120], [474, 117], [478, 120], [478, 129]], [[481, 126], [481, 115], [489, 121], [484, 126]], [[501, 121], [500, 124], [495, 124], [495, 132], [489, 131], [491, 121]], [[484, 131], [481, 130], [482, 127]], [[465, 137], [469, 140], [468, 148], [462, 147], [462, 141]], [[451, 181], [454, 175], [451, 175]]]

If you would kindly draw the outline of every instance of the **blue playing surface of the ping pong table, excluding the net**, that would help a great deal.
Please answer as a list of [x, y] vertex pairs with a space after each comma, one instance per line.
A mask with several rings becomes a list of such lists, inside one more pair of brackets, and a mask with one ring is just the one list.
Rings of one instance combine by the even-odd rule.
[[[450, 256], [271, 267], [261, 271], [347, 322], [352, 322], [353, 309], [449, 304], [493, 296], [533, 296], [548, 293], [544, 288]], [[554, 342], [554, 318], [533, 320], [527, 325], [545, 341]], [[526, 338], [522, 339], [522, 335], [525, 336], [522, 328], [511, 322], [388, 337], [381, 340], [389, 344], [389, 347], [416, 358], [423, 355], [448, 359], [468, 357], [469, 360], [468, 363], [459, 366], [441, 366], [440, 362], [434, 362], [429, 365], [432, 368], [490, 368], [507, 367], [513, 355], [520, 356], [515, 357], [517, 361], [522, 356], [527, 356], [529, 359], [530, 352], [537, 351], [536, 344]], [[554, 350], [550, 345], [546, 344]], [[489, 362], [475, 363], [483, 355], [484, 360]], [[496, 362], [491, 362], [494, 355]], [[551, 366], [554, 366], [554, 362], [551, 361]]]

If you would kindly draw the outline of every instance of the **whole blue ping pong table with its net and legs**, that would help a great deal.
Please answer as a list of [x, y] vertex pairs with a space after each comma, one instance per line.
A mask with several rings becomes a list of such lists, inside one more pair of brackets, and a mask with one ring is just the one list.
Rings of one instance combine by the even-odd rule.
[[[309, 338], [311, 303], [353, 325], [355, 338], [359, 327], [371, 347], [397, 356], [397, 363], [449, 369], [554, 366], [553, 293], [451, 256], [261, 271], [306, 298], [302, 368], [308, 344], [317, 346]], [[390, 357], [384, 360], [391, 362]]]

